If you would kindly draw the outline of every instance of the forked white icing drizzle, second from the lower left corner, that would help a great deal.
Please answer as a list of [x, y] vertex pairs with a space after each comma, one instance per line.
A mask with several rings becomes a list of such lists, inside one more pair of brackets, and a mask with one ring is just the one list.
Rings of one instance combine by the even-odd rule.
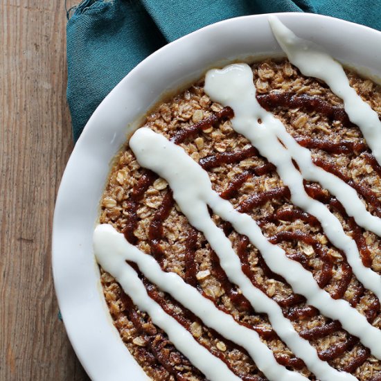
[[168, 181], [173, 191], [173, 198], [181, 212], [186, 215], [193, 227], [204, 233], [229, 280], [240, 287], [242, 294], [250, 301], [256, 312], [268, 315], [278, 336], [305, 362], [308, 369], [320, 380], [351, 379], [352, 375], [338, 372], [328, 363], [321, 361], [317, 351], [296, 333], [291, 322], [283, 316], [279, 305], [254, 287], [242, 272], [240, 260], [229, 238], [211, 219], [207, 206], [210, 206], [223, 220], [231, 222], [238, 233], [247, 236], [263, 254], [269, 267], [277, 274], [285, 276], [296, 293], [305, 295], [308, 303], [317, 306], [328, 317], [342, 321], [348, 331], [352, 331], [366, 344], [371, 344], [375, 351], [377, 346], [373, 331], [377, 329], [369, 325], [365, 317], [351, 308], [346, 301], [331, 299], [319, 288], [310, 272], [303, 269], [299, 263], [287, 258], [283, 249], [272, 245], [263, 236], [249, 215], [238, 213], [230, 202], [215, 193], [207, 172], [193, 161], [183, 148], [146, 127], [139, 128], [134, 133], [130, 139], [130, 148], [141, 166], [157, 172]]

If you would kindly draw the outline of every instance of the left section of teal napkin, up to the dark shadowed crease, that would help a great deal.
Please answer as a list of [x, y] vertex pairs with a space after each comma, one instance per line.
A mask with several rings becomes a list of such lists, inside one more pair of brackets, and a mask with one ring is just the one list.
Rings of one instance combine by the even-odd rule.
[[139, 1], [84, 1], [67, 24], [67, 100], [76, 141], [99, 103], [166, 44]]

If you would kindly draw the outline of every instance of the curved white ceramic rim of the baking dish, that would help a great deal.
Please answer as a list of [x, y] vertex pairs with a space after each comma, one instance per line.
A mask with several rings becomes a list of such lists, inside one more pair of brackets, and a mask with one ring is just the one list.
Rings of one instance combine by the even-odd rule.
[[[147, 380], [112, 326], [91, 244], [109, 163], [134, 122], [164, 93], [197, 80], [211, 67], [281, 53], [267, 16], [221, 21], [150, 55], [103, 100], [71, 154], [55, 206], [53, 276], [69, 339], [92, 380]], [[380, 32], [320, 15], [278, 17], [341, 62], [381, 78]]]

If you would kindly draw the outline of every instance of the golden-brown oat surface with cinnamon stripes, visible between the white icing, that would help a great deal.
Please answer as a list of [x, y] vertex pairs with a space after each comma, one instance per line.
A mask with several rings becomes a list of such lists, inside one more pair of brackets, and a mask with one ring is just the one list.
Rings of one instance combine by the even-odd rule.
[[[349, 184], [357, 187], [366, 208], [380, 216], [381, 168], [372, 160], [358, 127], [348, 121], [342, 100], [324, 83], [302, 76], [287, 60], [266, 60], [253, 64], [252, 68], [260, 104], [280, 118], [301, 145], [310, 148], [317, 165], [351, 181]], [[357, 93], [381, 115], [381, 87], [352, 71], [347, 74]], [[170, 139], [200, 121], [220, 116], [221, 110], [221, 105], [212, 103], [204, 94], [201, 80], [161, 103], [147, 117], [145, 126]], [[290, 203], [287, 188], [272, 165], [255, 152], [247, 139], [233, 131], [229, 117], [225, 115], [213, 125], [206, 123], [200, 132], [190, 134], [179, 144], [208, 171], [214, 190], [238, 210], [249, 213], [271, 242], [309, 269], [324, 290], [349, 301], [373, 326], [381, 328], [378, 299], [352, 275], [344, 254], [330, 244], [317, 220]], [[329, 205], [346, 233], [355, 238], [364, 264], [380, 273], [380, 238], [357, 227], [328, 191], [307, 182], [305, 188]], [[278, 362], [315, 379], [274, 334], [267, 317], [256, 314], [240, 290], [227, 280], [202, 233], [190, 227], [173, 202], [166, 181], [141, 168], [127, 146], [112, 168], [101, 209], [101, 223], [112, 224], [139, 249], [155, 256], [163, 270], [179, 274], [220, 309], [257, 330]], [[213, 215], [213, 220], [229, 236], [244, 272], [278, 301], [295, 329], [317, 348], [321, 359], [360, 380], [381, 380], [381, 362], [357, 338], [342, 330], [336, 321], [305, 305], [303, 297], [295, 296], [283, 278], [265, 266], [258, 250], [245, 237], [218, 216]], [[143, 276], [142, 279], [150, 296], [186, 326], [197, 341], [223, 357], [242, 380], [265, 380], [242, 348], [202, 326], [200, 319]], [[150, 317], [136, 310], [112, 276], [102, 272], [102, 284], [123, 342], [152, 379], [204, 380], [202, 373], [172, 346], [166, 334], [151, 323]]]

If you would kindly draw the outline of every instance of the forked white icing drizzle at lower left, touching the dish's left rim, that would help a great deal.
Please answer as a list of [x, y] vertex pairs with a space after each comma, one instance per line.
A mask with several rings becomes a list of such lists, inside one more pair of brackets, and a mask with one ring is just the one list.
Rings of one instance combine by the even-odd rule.
[[[111, 225], [101, 224], [96, 227], [94, 249], [98, 263], [103, 269], [116, 278], [140, 310], [150, 314], [154, 324], [161, 324], [159, 326], [168, 333], [171, 342], [209, 379], [240, 380], [227, 369], [224, 362], [197, 344], [185, 328], [150, 299], [136, 272], [125, 263], [125, 260], [132, 260], [136, 263], [149, 281], [156, 284], [161, 291], [168, 292], [185, 308], [200, 317], [206, 326], [217, 330], [226, 339], [245, 348], [258, 369], [263, 371], [269, 380], [307, 380], [303, 375], [288, 371], [284, 366], [278, 364], [274, 354], [266, 344], [260, 341], [256, 331], [241, 326], [231, 315], [218, 310], [212, 301], [204, 298], [194, 287], [185, 283], [179, 275], [163, 272], [159, 263], [152, 256], [143, 253], [127, 242], [123, 234], [118, 233]], [[154, 310], [152, 311], [152, 309]], [[176, 332], [171, 332], [173, 326], [175, 326]], [[173, 341], [174, 336], [175, 341]], [[344, 380], [344, 378], [342, 379]]]

